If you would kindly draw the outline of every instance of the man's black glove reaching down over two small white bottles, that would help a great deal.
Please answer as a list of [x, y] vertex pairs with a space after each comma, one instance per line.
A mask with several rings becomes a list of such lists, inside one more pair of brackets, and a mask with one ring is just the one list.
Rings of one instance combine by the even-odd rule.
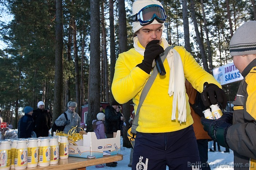
[[[206, 82], [207, 83], [207, 82]], [[206, 84], [204, 83], [204, 84]], [[225, 92], [219, 88], [216, 84], [208, 84], [201, 93], [203, 104], [205, 107], [209, 107], [212, 104], [220, 103], [222, 108], [226, 108], [227, 97]], [[209, 98], [208, 98], [209, 97]]]

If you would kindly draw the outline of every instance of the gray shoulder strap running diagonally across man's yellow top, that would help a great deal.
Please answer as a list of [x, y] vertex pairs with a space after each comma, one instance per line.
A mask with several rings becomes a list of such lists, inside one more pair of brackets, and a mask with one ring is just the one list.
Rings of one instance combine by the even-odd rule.
[[[168, 52], [173, 48], [173, 46], [169, 46], [165, 49], [165, 52], [163, 52], [160, 57], [162, 59], [162, 62], [165, 60]], [[136, 110], [136, 114], [135, 114], [135, 118], [133, 119], [132, 121], [132, 130], [131, 132], [136, 134], [136, 129], [138, 127], [138, 121], [139, 121], [139, 110], [140, 110], [140, 107], [142, 106], [142, 103], [144, 102], [147, 94], [148, 94], [148, 91], [150, 90], [153, 82], [155, 81], [155, 78], [157, 77], [157, 74], [158, 74], [158, 71], [157, 71], [157, 67], [154, 67], [153, 69], [153, 72], [150, 76], [150, 78], [148, 78], [147, 80], [147, 83], [145, 84], [143, 90], [142, 90], [142, 93], [140, 95], [140, 101], [139, 101], [139, 104], [138, 104], [138, 107], [137, 107], [137, 110]]]

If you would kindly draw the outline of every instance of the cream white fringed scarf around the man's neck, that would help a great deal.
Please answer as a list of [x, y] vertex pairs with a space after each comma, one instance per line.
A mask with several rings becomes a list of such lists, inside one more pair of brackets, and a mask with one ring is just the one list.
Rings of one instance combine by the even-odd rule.
[[[133, 38], [133, 47], [140, 55], [144, 56], [144, 48], [138, 46], [138, 37]], [[162, 37], [163, 48], [169, 46], [167, 40]], [[166, 57], [170, 67], [170, 79], [169, 79], [169, 96], [173, 95], [173, 110], [172, 120], [176, 120], [176, 108], [178, 103], [178, 121], [180, 123], [186, 122], [187, 119], [187, 108], [186, 108], [186, 90], [185, 90], [185, 77], [184, 70], [181, 61], [180, 54], [174, 49], [171, 49]], [[155, 62], [153, 62], [155, 65]], [[153, 65], [153, 66], [154, 66]]]

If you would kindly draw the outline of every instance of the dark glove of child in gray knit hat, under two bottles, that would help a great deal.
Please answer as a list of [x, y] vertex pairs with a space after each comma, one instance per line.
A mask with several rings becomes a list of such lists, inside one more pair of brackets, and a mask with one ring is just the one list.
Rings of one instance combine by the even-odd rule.
[[229, 126], [232, 125], [233, 114], [225, 113], [217, 120], [201, 118], [201, 123], [208, 135], [219, 145], [229, 148], [226, 134]]

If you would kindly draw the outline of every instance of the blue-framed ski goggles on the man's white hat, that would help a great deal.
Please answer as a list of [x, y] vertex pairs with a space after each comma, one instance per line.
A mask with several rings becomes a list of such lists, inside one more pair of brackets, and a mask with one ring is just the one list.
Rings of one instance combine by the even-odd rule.
[[154, 19], [159, 23], [164, 23], [167, 18], [166, 12], [160, 5], [152, 4], [140, 9], [138, 13], [132, 16], [133, 22], [139, 21], [140, 25], [151, 24]]

